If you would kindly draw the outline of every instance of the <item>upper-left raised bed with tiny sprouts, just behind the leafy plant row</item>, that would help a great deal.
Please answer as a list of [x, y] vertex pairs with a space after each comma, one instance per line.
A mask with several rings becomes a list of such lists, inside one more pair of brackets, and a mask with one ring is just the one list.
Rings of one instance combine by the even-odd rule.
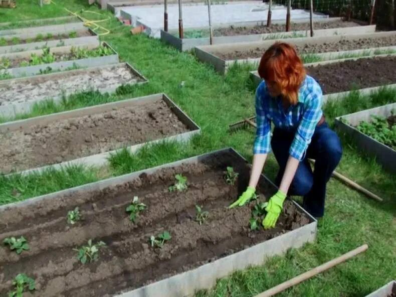
[[95, 42], [99, 45], [99, 37], [88, 28], [56, 34], [39, 33], [29, 38], [7, 36], [0, 37], [0, 54], [38, 50], [44, 47], [78, 46]]

